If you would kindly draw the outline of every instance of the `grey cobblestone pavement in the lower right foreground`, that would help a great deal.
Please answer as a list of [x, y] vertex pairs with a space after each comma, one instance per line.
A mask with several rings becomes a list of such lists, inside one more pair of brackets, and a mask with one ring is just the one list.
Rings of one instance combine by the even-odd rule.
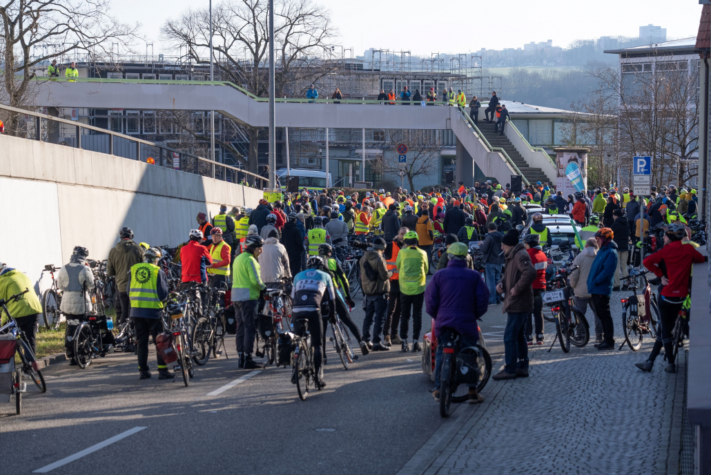
[[[618, 347], [624, 294], [611, 300]], [[587, 319], [594, 329], [589, 309]], [[661, 357], [652, 373], [635, 368], [648, 336], [638, 353], [600, 352], [591, 333], [584, 348], [548, 353], [546, 324], [545, 345], [529, 347], [530, 378], [491, 380], [483, 404], [460, 405], [399, 474], [676, 474], [684, 371], [665, 373]]]

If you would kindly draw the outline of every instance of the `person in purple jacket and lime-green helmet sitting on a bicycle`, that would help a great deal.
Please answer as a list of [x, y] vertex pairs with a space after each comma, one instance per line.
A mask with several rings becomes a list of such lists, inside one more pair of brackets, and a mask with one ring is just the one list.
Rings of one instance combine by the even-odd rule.
[[[466, 267], [469, 249], [464, 242], [454, 242], [447, 249], [447, 269], [435, 272], [425, 291], [427, 313], [434, 317], [434, 334], [437, 336], [437, 354], [434, 367], [434, 400], [439, 401], [439, 371], [442, 365], [442, 348], [459, 334], [460, 348], [474, 346], [479, 341], [476, 320], [488, 308], [488, 289], [481, 274]], [[469, 404], [479, 404], [483, 397], [476, 386], [469, 386]]]

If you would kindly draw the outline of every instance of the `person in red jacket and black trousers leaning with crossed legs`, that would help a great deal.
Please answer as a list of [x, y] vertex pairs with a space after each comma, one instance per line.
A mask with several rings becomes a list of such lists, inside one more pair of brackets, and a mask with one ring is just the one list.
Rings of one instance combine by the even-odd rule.
[[634, 363], [643, 370], [651, 371], [654, 360], [659, 355], [662, 347], [667, 358], [667, 373], [675, 373], [676, 365], [670, 361], [673, 353], [672, 330], [680, 309], [689, 295], [691, 268], [693, 264], [705, 261], [705, 257], [693, 246], [685, 246], [686, 228], [681, 223], [666, 225], [664, 230], [664, 247], [654, 252], [643, 261], [644, 267], [661, 277], [659, 286], [659, 313], [661, 314], [661, 335], [657, 333], [657, 340], [647, 361]]

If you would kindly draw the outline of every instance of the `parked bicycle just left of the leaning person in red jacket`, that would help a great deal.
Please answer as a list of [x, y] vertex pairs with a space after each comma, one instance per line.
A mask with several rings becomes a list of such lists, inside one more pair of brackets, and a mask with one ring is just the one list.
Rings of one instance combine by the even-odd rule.
[[[639, 288], [639, 278], [643, 279], [643, 294], [647, 292], [650, 295], [650, 312], [647, 314], [646, 306], [639, 306], [637, 289]], [[644, 335], [649, 334], [653, 339], [657, 338], [659, 308], [657, 306], [656, 297], [651, 292], [651, 287], [647, 279], [646, 272], [641, 269], [632, 267], [629, 271], [629, 276], [626, 279], [627, 287], [632, 291], [632, 294], [626, 299], [620, 299], [622, 303], [622, 329], [624, 330], [624, 341], [619, 349], [622, 349], [624, 343], [627, 343], [632, 351], [639, 351], [642, 347]], [[629, 311], [629, 314], [627, 314]]]

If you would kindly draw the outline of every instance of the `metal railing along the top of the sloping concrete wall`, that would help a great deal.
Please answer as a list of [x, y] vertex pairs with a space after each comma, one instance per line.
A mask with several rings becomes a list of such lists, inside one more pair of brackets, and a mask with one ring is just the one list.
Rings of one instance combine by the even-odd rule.
[[6, 133], [15, 137], [122, 156], [125, 159], [143, 161], [259, 189], [269, 186], [267, 178], [249, 171], [137, 137], [1, 104], [0, 112], [14, 116], [14, 120], [9, 121], [11, 123], [6, 127]]

